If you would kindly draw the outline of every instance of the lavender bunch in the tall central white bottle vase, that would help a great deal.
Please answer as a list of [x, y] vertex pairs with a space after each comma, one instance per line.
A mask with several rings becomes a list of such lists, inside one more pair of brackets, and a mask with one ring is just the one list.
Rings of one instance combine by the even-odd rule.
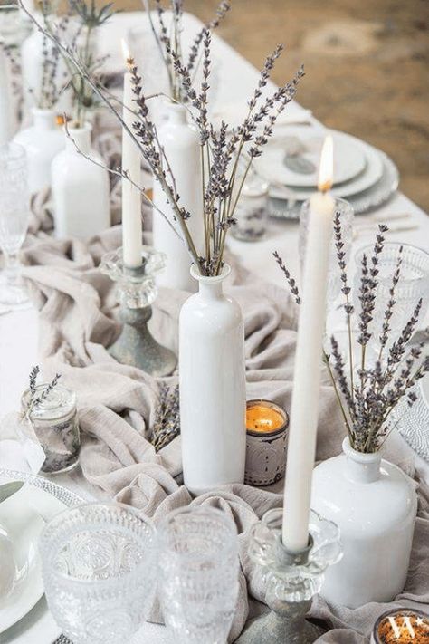
[[[278, 90], [272, 91], [266, 99], [258, 101], [253, 109], [249, 108], [242, 124], [231, 129], [223, 123], [220, 129], [210, 123], [208, 117], [209, 77], [211, 69], [211, 34], [204, 32], [204, 60], [202, 82], [196, 90], [192, 79], [183, 62], [180, 50], [168, 43], [168, 55], [174, 62], [177, 76], [183, 91], [186, 91], [186, 110], [195, 122], [200, 135], [201, 170], [202, 178], [202, 212], [190, 213], [182, 205], [180, 194], [176, 187], [174, 172], [170, 167], [167, 154], [163, 149], [157, 135], [157, 128], [150, 119], [147, 97], [142, 90], [141, 77], [137, 66], [129, 60], [129, 70], [133, 83], [133, 95], [136, 104], [136, 120], [132, 127], [124, 122], [110, 99], [109, 92], [91, 74], [75, 51], [64, 45], [55, 34], [50, 33], [26, 10], [23, 0], [18, 0], [25, 14], [29, 15], [37, 24], [43, 34], [55, 43], [69, 63], [75, 67], [79, 76], [91, 92], [93, 92], [110, 110], [119, 121], [123, 130], [127, 132], [133, 143], [138, 147], [142, 157], [147, 161], [148, 167], [158, 184], [162, 187], [167, 203], [173, 209], [174, 222], [155, 206], [155, 209], [164, 216], [168, 224], [173, 227], [176, 234], [181, 236], [193, 263], [200, 274], [218, 275], [224, 267], [224, 247], [228, 230], [234, 225], [234, 211], [240, 198], [244, 181], [252, 166], [254, 156], [258, 155], [267, 140], [272, 136], [272, 128], [281, 110], [291, 100], [291, 95], [296, 91], [296, 85], [302, 72]], [[177, 5], [177, 10], [180, 8]], [[167, 46], [167, 44], [166, 44]], [[264, 85], [272, 71], [273, 62], [277, 59], [281, 48], [277, 48], [265, 64], [262, 82]], [[261, 103], [261, 104], [260, 104]], [[249, 150], [253, 149], [251, 153]], [[107, 168], [111, 171], [111, 168]], [[113, 172], [118, 172], [113, 170]], [[119, 172], [120, 176], [129, 179], [126, 172]], [[140, 188], [141, 189], [141, 188]], [[144, 197], [149, 201], [148, 197]], [[205, 252], [197, 251], [188, 220], [191, 216], [201, 216], [205, 229]]]

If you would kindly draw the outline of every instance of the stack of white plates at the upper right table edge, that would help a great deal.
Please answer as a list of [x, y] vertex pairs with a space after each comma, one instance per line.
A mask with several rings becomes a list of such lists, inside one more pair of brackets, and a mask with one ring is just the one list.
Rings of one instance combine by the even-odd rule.
[[[257, 159], [258, 173], [270, 184], [272, 216], [297, 218], [300, 205], [317, 189], [320, 149], [325, 134], [301, 134], [300, 154], [285, 164], [291, 136], [276, 136]], [[356, 214], [380, 207], [397, 189], [399, 175], [393, 161], [380, 150], [356, 137], [330, 130], [334, 139], [334, 185], [332, 194], [347, 199]], [[293, 159], [302, 161], [309, 170], [293, 171]]]

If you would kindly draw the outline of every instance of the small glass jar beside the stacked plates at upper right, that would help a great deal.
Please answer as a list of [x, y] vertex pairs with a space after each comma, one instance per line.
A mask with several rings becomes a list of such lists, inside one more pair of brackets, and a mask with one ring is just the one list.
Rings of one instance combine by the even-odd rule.
[[261, 239], [267, 230], [268, 204], [268, 183], [255, 176], [248, 179], [235, 208], [232, 235], [243, 242]]

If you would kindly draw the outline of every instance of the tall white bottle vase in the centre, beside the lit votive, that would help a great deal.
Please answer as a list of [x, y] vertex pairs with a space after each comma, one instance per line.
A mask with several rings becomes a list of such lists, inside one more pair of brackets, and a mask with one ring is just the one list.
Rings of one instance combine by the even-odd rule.
[[244, 480], [244, 328], [240, 306], [224, 295], [229, 266], [218, 277], [191, 273], [199, 293], [179, 318], [180, 428], [184, 482], [201, 494]]

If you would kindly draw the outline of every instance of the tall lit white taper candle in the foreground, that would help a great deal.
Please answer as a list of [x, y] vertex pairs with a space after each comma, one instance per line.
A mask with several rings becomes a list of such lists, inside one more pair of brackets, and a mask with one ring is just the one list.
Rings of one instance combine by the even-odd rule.
[[320, 159], [320, 192], [310, 199], [295, 353], [282, 525], [282, 542], [291, 553], [304, 550], [309, 541], [311, 477], [316, 453], [329, 248], [335, 208], [334, 198], [326, 192], [332, 183], [332, 166], [332, 139], [328, 137]]

